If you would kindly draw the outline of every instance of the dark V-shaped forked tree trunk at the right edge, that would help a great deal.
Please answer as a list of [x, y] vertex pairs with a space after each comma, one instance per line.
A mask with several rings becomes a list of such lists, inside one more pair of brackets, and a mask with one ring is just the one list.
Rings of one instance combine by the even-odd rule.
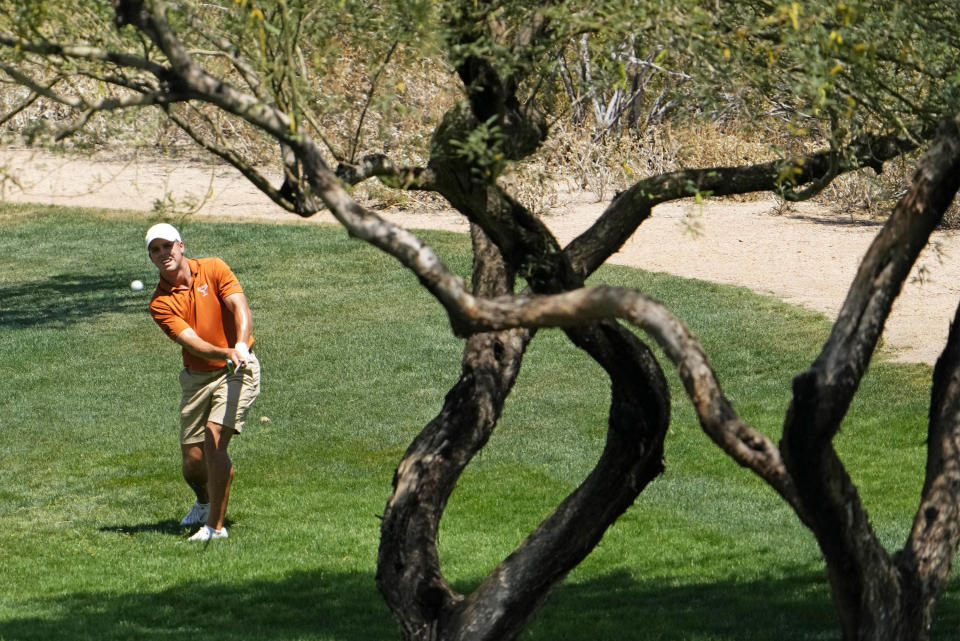
[[[806, 522], [823, 551], [844, 638], [851, 641], [925, 639], [928, 630], [921, 613], [932, 606], [936, 595], [923, 585], [936, 583], [937, 573], [924, 567], [930, 564], [929, 558], [920, 562], [921, 550], [936, 550], [933, 565], [949, 564], [956, 552], [957, 486], [950, 488], [954, 494], [950, 498], [934, 492], [952, 481], [956, 448], [944, 443], [943, 434], [952, 438], [954, 417], [948, 417], [946, 426], [941, 418], [931, 421], [931, 435], [940, 437], [932, 441], [931, 457], [941, 471], [928, 473], [925, 493], [925, 501], [939, 501], [947, 509], [921, 507], [907, 552], [898, 555], [896, 562], [873, 532], [832, 439], [866, 372], [894, 299], [960, 186], [958, 125], [960, 119], [945, 122], [921, 158], [910, 190], [864, 257], [823, 350], [811, 368], [794, 379], [794, 397], [784, 424], [784, 461]], [[949, 414], [956, 397], [952, 390], [943, 391], [945, 377], [956, 370], [952, 349], [948, 346], [934, 387], [938, 417]], [[940, 518], [949, 522], [940, 525], [939, 536], [922, 544], [924, 522]]]

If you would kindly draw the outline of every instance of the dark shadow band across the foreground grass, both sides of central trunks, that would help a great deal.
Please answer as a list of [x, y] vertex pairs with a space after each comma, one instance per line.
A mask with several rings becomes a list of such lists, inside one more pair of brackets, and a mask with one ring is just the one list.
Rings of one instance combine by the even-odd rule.
[[[399, 639], [372, 573], [298, 572], [279, 581], [193, 581], [132, 594], [82, 593], [36, 604], [46, 616], [0, 621], [0, 638]], [[613, 573], [558, 588], [524, 641], [838, 639], [823, 577], [669, 586]]]

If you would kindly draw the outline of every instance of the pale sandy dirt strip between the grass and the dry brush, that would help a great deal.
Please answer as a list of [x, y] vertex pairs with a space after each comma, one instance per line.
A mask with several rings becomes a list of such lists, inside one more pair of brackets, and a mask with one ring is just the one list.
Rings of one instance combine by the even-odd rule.
[[[0, 149], [0, 198], [8, 202], [150, 210], [157, 201], [205, 196], [198, 216], [301, 220], [222, 165]], [[571, 199], [544, 220], [565, 244], [603, 208], [603, 203]], [[378, 213], [411, 229], [467, 231], [466, 221], [450, 212]], [[309, 220], [333, 222], [329, 215]], [[833, 318], [879, 229], [879, 223], [827, 215], [808, 204], [782, 215], [774, 213], [772, 201], [668, 204], [654, 210], [611, 262], [741, 285]], [[884, 351], [896, 360], [933, 364], [958, 300], [960, 235], [937, 232], [887, 322]]]

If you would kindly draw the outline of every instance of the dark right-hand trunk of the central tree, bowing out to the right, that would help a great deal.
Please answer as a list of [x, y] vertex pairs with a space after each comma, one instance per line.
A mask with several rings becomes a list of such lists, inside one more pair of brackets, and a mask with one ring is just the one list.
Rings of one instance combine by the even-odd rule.
[[515, 638], [552, 589], [596, 547], [607, 528], [663, 470], [667, 396], [649, 384], [651, 373], [645, 370], [652, 356], [646, 346], [615, 323], [570, 333], [575, 342], [589, 343], [581, 346], [611, 377], [604, 451], [580, 487], [453, 608], [450, 635], [443, 638]]

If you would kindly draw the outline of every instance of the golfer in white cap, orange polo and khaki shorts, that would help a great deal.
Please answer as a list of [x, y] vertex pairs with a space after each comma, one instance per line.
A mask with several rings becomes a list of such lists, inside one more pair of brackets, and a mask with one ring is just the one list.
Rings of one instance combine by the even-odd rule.
[[147, 252], [160, 271], [150, 315], [183, 348], [180, 449], [197, 500], [180, 524], [201, 526], [190, 541], [224, 539], [233, 481], [227, 446], [260, 394], [250, 307], [230, 267], [219, 258], [187, 258], [172, 225], [147, 230]]

